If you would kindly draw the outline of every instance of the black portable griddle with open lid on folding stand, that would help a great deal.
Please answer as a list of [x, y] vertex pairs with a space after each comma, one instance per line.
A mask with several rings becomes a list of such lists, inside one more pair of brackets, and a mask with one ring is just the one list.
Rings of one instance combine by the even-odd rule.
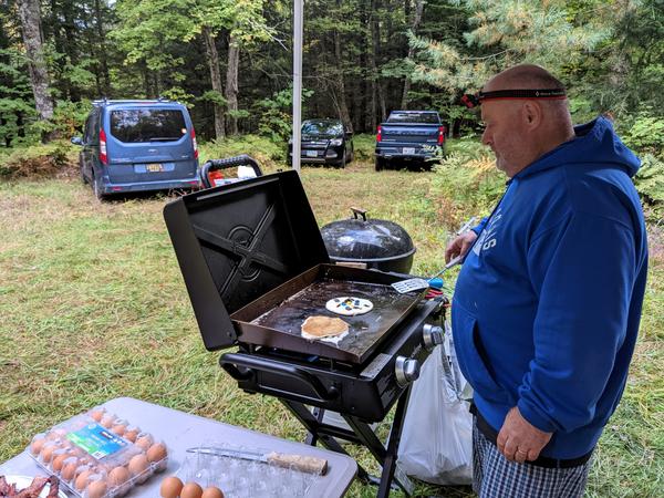
[[[330, 264], [293, 170], [184, 196], [164, 217], [205, 346], [239, 346], [219, 360], [238, 386], [277, 396], [309, 430], [308, 444], [346, 454], [342, 438], [369, 448], [383, 466], [378, 496], [393, 479], [411, 495], [396, 467], [398, 440], [411, 382], [443, 340], [443, 300], [397, 293], [390, 284], [403, 276]], [[343, 317], [350, 333], [338, 344], [302, 338], [303, 320], [332, 315], [325, 303], [341, 295], [374, 308]], [[369, 424], [395, 403], [385, 446]], [[351, 429], [323, 423], [325, 409]], [[361, 467], [359, 477], [375, 484]]]

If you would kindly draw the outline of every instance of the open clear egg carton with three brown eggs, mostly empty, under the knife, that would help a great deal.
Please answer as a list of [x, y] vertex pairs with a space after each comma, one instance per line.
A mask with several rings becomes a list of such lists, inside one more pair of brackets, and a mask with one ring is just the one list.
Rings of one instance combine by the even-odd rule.
[[[239, 453], [270, 453], [255, 447], [218, 446]], [[175, 475], [162, 481], [159, 495], [163, 498], [302, 498], [319, 478], [315, 474], [263, 461], [190, 453]]]

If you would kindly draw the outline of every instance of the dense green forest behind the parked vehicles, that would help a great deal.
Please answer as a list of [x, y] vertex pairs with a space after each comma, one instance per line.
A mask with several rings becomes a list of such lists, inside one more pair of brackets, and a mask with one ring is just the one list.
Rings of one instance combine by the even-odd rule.
[[[0, 155], [76, 134], [101, 97], [179, 100], [203, 141], [291, 133], [291, 2], [0, 0]], [[610, 113], [662, 159], [663, 0], [308, 0], [303, 51], [305, 118], [373, 133], [391, 110], [433, 108], [467, 135], [460, 95], [532, 62], [575, 122]]]

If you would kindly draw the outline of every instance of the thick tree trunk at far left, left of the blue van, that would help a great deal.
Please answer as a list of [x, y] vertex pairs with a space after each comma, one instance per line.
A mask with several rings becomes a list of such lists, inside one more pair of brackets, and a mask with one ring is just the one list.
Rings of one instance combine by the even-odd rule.
[[[28, 71], [34, 94], [34, 106], [40, 120], [51, 121], [53, 117], [53, 98], [50, 93], [49, 73], [43, 53], [41, 35], [41, 9], [39, 0], [20, 0], [19, 17], [23, 31], [23, 43], [28, 55]], [[42, 133], [42, 142], [53, 138], [53, 133]]]

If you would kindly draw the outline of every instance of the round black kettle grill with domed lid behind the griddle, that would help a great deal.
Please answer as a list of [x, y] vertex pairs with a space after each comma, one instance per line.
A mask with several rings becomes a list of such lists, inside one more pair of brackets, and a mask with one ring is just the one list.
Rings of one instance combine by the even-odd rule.
[[330, 259], [334, 262], [362, 262], [381, 271], [408, 273], [415, 256], [408, 232], [392, 221], [366, 219], [365, 210], [351, 209], [354, 218], [332, 221], [321, 228]]

